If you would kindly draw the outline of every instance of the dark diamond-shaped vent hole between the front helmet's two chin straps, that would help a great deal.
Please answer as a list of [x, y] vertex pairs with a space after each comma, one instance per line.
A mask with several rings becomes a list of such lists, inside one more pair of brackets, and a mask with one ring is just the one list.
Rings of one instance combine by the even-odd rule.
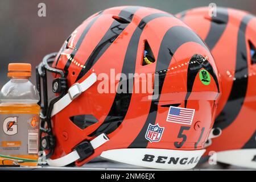
[[69, 119], [82, 130], [98, 122], [98, 119], [95, 118], [92, 114], [75, 115]]

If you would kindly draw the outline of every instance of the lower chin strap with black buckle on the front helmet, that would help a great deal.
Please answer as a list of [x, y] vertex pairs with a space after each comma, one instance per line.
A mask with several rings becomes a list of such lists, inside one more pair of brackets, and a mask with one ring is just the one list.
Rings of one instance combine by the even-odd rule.
[[109, 138], [106, 134], [100, 134], [90, 142], [84, 141], [80, 143], [75, 147], [73, 152], [70, 152], [59, 159], [47, 159], [46, 162], [52, 167], [64, 167], [75, 162], [76, 160], [82, 161], [92, 155], [96, 148], [108, 142], [108, 140]]

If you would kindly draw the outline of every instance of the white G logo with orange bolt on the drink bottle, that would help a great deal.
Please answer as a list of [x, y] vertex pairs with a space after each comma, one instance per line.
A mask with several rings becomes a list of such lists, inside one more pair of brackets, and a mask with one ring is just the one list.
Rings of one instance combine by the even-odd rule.
[[9, 117], [3, 121], [3, 132], [6, 135], [15, 135], [18, 133], [17, 118], [18, 117]]

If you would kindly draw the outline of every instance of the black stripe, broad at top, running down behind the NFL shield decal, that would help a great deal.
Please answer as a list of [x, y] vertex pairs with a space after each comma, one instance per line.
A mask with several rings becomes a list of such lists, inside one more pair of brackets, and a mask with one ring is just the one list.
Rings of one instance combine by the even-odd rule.
[[[187, 35], [187, 36], [179, 36]], [[162, 43], [160, 45], [158, 59], [156, 62], [156, 72], [167, 70], [173, 55], [175, 55], [176, 50], [187, 42], [195, 42], [201, 46], [208, 49], [203, 40], [201, 40], [195, 32], [186, 27], [175, 26], [170, 28], [163, 37]], [[154, 83], [155, 88], [158, 87], [159, 96], [156, 100], [151, 101], [150, 111], [141, 132], [138, 134], [137, 138], [130, 144], [129, 148], [146, 148], [148, 145], [148, 140], [144, 137], [149, 124], [154, 125], [156, 121], [156, 115], [158, 113], [158, 103], [160, 94], [162, 92], [164, 79], [167, 72], [159, 73], [159, 81]]]

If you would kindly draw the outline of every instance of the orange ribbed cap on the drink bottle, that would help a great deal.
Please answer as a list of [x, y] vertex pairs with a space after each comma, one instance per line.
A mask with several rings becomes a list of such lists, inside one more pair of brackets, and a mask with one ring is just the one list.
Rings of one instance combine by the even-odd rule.
[[8, 65], [8, 77], [31, 77], [31, 64], [10, 63]]

